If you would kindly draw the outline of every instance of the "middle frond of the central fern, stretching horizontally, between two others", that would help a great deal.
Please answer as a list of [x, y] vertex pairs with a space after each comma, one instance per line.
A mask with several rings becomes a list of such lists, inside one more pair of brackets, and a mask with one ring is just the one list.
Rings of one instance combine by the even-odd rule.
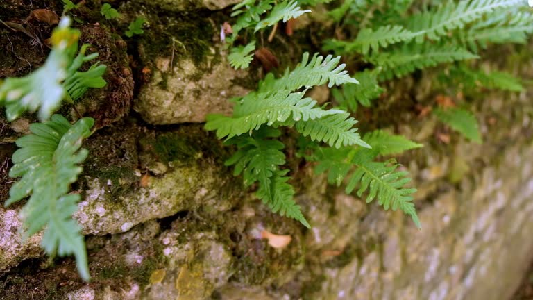
[[255, 101], [244, 101], [235, 107], [237, 117], [210, 115], [205, 128], [216, 130], [218, 138], [232, 138], [260, 128], [262, 124], [285, 122], [289, 117], [294, 121], [313, 120], [327, 115], [344, 113], [343, 110], [323, 110], [316, 108], [316, 101], [304, 98], [303, 92], [280, 90], [273, 93], [258, 94]]

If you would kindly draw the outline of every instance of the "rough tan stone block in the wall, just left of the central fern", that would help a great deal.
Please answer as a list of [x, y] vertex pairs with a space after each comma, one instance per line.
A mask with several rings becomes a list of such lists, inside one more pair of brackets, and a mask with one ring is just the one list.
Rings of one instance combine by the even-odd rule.
[[[192, 60], [180, 60], [170, 67], [171, 58], [158, 57], [151, 82], [141, 89], [134, 109], [151, 124], [205, 122], [210, 113], [230, 115], [232, 97], [246, 90], [234, 81], [237, 72], [226, 60], [203, 69]], [[211, 64], [211, 62], [208, 62]]]

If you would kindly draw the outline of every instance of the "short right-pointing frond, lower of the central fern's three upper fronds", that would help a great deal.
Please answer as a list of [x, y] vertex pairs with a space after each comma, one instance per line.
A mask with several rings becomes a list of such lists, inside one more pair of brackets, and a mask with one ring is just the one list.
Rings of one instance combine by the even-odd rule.
[[331, 147], [340, 148], [357, 144], [370, 148], [357, 133], [357, 128], [353, 127], [355, 124], [357, 120], [350, 117], [349, 113], [341, 113], [307, 122], [296, 122], [296, 130], [304, 136], [310, 136], [311, 140], [326, 142]]

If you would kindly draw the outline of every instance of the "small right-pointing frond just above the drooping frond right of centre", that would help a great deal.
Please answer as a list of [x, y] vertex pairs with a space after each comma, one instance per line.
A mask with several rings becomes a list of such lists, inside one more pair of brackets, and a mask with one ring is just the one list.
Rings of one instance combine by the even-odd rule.
[[403, 135], [392, 135], [381, 130], [366, 133], [363, 140], [381, 155], [401, 154], [407, 150], [423, 147], [423, 144], [407, 140]]

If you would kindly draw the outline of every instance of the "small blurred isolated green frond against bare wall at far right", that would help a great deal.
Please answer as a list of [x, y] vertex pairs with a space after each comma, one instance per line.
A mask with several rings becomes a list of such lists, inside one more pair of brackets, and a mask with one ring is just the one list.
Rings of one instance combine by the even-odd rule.
[[433, 113], [441, 122], [459, 131], [459, 133], [462, 133], [469, 140], [481, 144], [481, 134], [477, 125], [477, 119], [468, 110], [461, 108], [437, 109]]

